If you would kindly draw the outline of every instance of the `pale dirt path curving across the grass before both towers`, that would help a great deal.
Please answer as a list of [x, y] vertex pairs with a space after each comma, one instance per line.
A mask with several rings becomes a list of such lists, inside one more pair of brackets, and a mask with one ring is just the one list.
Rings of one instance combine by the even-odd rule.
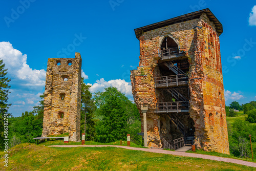
[[167, 151], [167, 150], [155, 149], [155, 148], [136, 148], [136, 147], [119, 146], [119, 145], [50, 145], [50, 147], [105, 147], [105, 146], [132, 149], [132, 150], [151, 152], [151, 153], [161, 153], [161, 154], [169, 154], [169, 155], [184, 156], [184, 157], [195, 157], [195, 158], [201, 158], [201, 159], [223, 161], [228, 163], [236, 163], [236, 164], [241, 164], [245, 166], [256, 167], [256, 163], [243, 161], [243, 160], [209, 156], [209, 155], [201, 155], [201, 154], [195, 154], [195, 153], [173, 152], [173, 151]]

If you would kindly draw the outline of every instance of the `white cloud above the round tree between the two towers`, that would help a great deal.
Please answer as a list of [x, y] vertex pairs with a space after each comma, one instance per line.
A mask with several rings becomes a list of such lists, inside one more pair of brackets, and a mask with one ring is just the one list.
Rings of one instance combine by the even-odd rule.
[[97, 80], [94, 84], [92, 84], [90, 91], [92, 93], [96, 93], [97, 91], [102, 92], [105, 88], [108, 87], [115, 87], [117, 88], [117, 90], [119, 90], [121, 93], [124, 93], [126, 96], [132, 96], [131, 83], [126, 82], [123, 79], [113, 79], [110, 81], [105, 81], [104, 78], [101, 78], [100, 80]]

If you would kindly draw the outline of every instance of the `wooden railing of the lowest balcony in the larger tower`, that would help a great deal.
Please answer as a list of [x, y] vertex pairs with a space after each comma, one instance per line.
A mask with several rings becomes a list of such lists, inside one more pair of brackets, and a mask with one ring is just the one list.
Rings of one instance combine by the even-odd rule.
[[156, 103], [156, 113], [188, 112], [189, 101], [160, 102]]

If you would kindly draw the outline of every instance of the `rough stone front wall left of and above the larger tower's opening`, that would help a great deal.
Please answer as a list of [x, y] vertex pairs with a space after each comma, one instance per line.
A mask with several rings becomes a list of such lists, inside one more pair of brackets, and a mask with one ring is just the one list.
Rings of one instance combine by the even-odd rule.
[[[174, 25], [166, 26], [156, 30], [148, 31], [143, 33], [140, 37], [140, 62], [137, 70], [131, 71], [131, 82], [133, 87], [133, 95], [135, 103], [138, 109], [142, 105], [144, 100], [148, 102], [148, 112], [147, 112], [147, 141], [148, 146], [162, 147], [162, 142], [160, 138], [161, 127], [160, 127], [160, 117], [163, 115], [158, 115], [154, 113], [155, 103], [159, 102], [157, 97], [160, 96], [161, 92], [155, 90], [155, 80], [154, 77], [161, 76], [159, 68], [157, 66], [158, 62], [158, 51], [161, 45], [160, 37], [170, 35], [174, 38], [179, 45], [180, 51], [185, 52], [186, 55], [191, 58], [193, 53], [190, 52], [191, 46], [193, 45], [194, 37], [194, 27], [197, 26], [199, 19], [189, 20], [183, 23], [177, 23]], [[141, 75], [141, 69], [143, 69], [144, 75]], [[156, 94], [157, 93], [157, 94]], [[163, 96], [162, 96], [163, 97]], [[163, 99], [162, 99], [163, 100]], [[143, 123], [143, 114], [141, 113], [141, 120]], [[153, 120], [153, 121], [152, 121]], [[150, 121], [150, 122], [148, 122]], [[169, 122], [169, 120], [167, 120]], [[166, 129], [166, 127], [163, 127]], [[175, 129], [175, 128], [173, 128]], [[143, 131], [143, 126], [142, 126]], [[168, 140], [173, 140], [173, 137], [165, 137]], [[169, 141], [171, 142], [171, 141]]]

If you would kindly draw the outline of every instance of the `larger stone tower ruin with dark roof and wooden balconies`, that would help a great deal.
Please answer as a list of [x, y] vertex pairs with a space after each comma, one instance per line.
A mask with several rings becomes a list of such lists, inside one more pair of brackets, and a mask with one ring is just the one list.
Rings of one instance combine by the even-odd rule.
[[138, 109], [148, 105], [148, 146], [162, 147], [163, 139], [172, 143], [183, 137], [185, 144], [229, 154], [222, 32], [209, 9], [135, 29], [140, 61], [131, 82]]

